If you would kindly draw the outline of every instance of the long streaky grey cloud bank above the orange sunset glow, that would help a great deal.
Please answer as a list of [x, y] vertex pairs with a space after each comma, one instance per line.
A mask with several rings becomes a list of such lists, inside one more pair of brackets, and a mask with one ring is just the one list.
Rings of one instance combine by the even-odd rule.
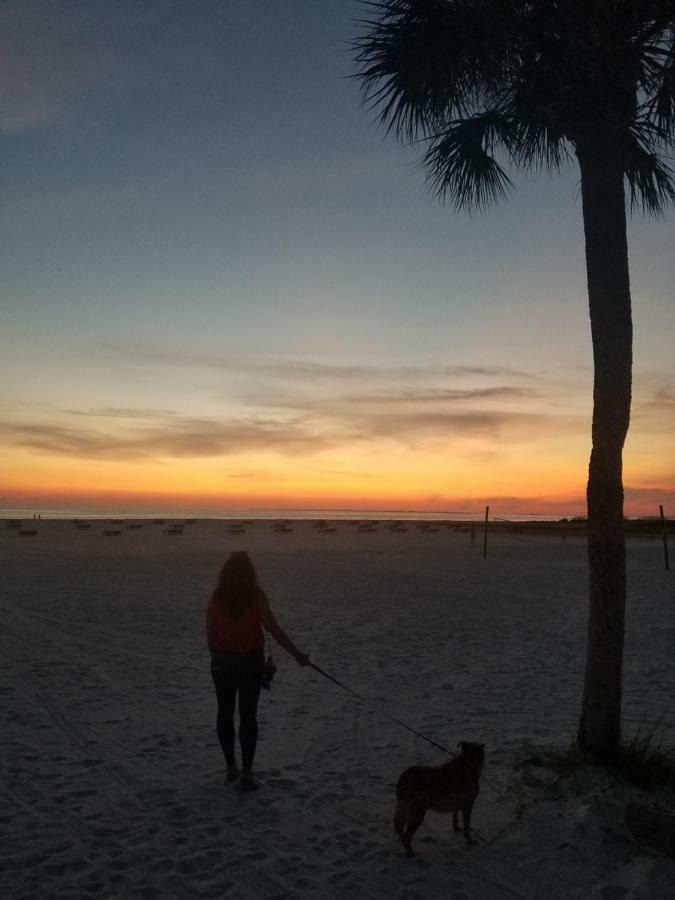
[[[124, 354], [147, 361], [146, 348], [124, 345]], [[236, 376], [222, 417], [195, 417], [171, 409], [105, 406], [69, 409], [62, 419], [12, 417], [4, 440], [33, 453], [88, 459], [163, 459], [232, 456], [272, 451], [286, 456], [397, 442], [430, 449], [441, 443], [464, 452], [474, 442], [475, 458], [503, 451], [546, 426], [586, 426], [586, 418], [554, 413], [541, 403], [541, 385], [528, 373], [480, 366], [353, 366], [299, 360], [204, 359], [153, 352], [155, 364], [218, 367]], [[525, 384], [475, 385], [507, 373]], [[461, 379], [471, 377], [465, 386]], [[457, 380], [457, 384], [448, 381]], [[367, 385], [367, 390], [360, 390]], [[530, 403], [536, 401], [536, 406]], [[525, 405], [523, 405], [525, 404]], [[67, 418], [66, 418], [67, 417]], [[91, 421], [91, 425], [84, 425]], [[553, 423], [555, 423], [553, 425]]]

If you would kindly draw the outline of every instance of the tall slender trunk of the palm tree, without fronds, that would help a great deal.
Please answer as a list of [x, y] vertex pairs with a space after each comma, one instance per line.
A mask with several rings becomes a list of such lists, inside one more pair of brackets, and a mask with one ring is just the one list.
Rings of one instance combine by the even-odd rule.
[[579, 746], [615, 759], [621, 739], [626, 608], [622, 450], [630, 419], [632, 343], [623, 166], [616, 148], [577, 142], [593, 340], [588, 471], [590, 607]]

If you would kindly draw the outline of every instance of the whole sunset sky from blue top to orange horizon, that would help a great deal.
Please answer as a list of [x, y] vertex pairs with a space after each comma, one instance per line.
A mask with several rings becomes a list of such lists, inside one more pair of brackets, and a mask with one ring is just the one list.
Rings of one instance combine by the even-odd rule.
[[[578, 514], [578, 172], [434, 198], [354, 0], [0, 4], [0, 507]], [[675, 509], [675, 213], [629, 226], [626, 511]]]

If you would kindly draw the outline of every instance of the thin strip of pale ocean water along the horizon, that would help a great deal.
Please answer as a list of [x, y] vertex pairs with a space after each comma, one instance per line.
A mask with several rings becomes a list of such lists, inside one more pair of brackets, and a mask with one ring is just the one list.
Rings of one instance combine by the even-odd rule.
[[[232, 508], [174, 508], [149, 509], [132, 507], [100, 508], [72, 507], [61, 509], [0, 507], [0, 519], [334, 519], [363, 521], [425, 521], [425, 522], [482, 522], [485, 507], [473, 510], [410, 510], [410, 509], [232, 509]], [[491, 521], [512, 522], [552, 522], [561, 518], [560, 514], [493, 516]]]

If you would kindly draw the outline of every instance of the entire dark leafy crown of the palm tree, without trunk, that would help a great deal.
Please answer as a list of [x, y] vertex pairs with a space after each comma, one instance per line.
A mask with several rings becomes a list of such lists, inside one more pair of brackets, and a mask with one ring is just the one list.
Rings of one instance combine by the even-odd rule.
[[631, 208], [675, 201], [675, 0], [362, 0], [364, 102], [462, 208], [503, 198], [498, 157], [559, 170], [580, 140], [623, 155]]

